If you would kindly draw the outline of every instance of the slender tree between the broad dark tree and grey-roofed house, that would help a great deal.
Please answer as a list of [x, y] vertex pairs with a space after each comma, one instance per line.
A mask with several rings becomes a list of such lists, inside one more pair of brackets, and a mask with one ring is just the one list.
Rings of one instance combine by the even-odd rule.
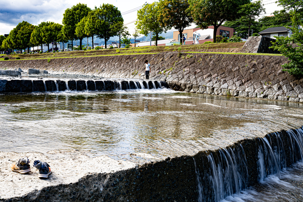
[[248, 26], [247, 38], [250, 34], [251, 26], [255, 24], [257, 17], [260, 16], [261, 12], [265, 12], [264, 4], [261, 1], [250, 2], [248, 4], [240, 5], [239, 15], [241, 20]]

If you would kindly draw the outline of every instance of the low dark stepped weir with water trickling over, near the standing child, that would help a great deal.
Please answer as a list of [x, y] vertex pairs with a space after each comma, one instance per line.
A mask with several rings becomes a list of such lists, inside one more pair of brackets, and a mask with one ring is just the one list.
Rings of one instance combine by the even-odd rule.
[[48, 91], [115, 91], [133, 89], [166, 88], [165, 81], [148, 81], [136, 79], [1, 79], [0, 93], [29, 93]]

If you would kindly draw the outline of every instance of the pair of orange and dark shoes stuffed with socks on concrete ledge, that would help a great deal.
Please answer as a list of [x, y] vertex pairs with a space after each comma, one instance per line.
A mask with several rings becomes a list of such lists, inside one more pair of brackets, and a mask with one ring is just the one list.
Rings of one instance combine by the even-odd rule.
[[[18, 162], [12, 164], [11, 170], [21, 174], [31, 172], [31, 166], [29, 163], [30, 161], [27, 157], [20, 158]], [[39, 170], [39, 178], [48, 178], [48, 175], [52, 173], [50, 166], [39, 160], [34, 161], [33, 167]]]

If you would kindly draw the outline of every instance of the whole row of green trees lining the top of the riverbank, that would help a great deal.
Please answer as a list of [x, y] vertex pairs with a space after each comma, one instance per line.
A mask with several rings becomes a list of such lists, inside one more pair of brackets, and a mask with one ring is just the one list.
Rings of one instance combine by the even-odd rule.
[[[291, 25], [289, 11], [294, 8], [297, 15], [302, 17], [302, 0], [278, 0], [278, 3], [284, 7], [283, 10], [274, 12], [273, 17], [265, 16], [257, 22], [260, 15], [265, 13], [261, 1], [160, 0], [143, 5], [142, 9], [138, 10], [133, 37], [136, 39], [139, 34], [147, 36], [152, 32], [157, 45], [159, 34], [174, 28], [182, 36], [184, 29], [192, 23], [202, 29], [213, 25], [216, 36], [218, 28], [224, 23], [224, 26], [233, 27], [236, 35], [245, 38], [250, 36], [252, 29], [258, 32], [277, 25]], [[129, 40], [127, 36], [130, 33], [124, 26], [121, 12], [111, 4], [103, 4], [94, 9], [88, 8], [86, 4], [74, 5], [65, 10], [62, 24], [41, 22], [34, 26], [25, 21], [20, 22], [10, 31], [7, 38], [0, 36], [0, 50], [28, 48], [29, 51], [29, 47], [37, 45], [54, 42], [56, 46], [57, 42], [67, 43], [74, 40], [80, 40], [82, 50], [82, 39], [92, 37], [94, 46], [95, 36], [105, 40], [105, 48], [110, 37], [119, 36], [120, 44], [128, 43]], [[216, 37], [213, 42], [216, 42]]]

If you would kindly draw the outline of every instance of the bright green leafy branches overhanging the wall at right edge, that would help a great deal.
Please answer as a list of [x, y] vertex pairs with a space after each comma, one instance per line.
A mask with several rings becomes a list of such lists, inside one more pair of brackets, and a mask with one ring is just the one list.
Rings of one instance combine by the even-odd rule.
[[[289, 63], [282, 65], [283, 71], [287, 71], [290, 75], [303, 76], [303, 29], [301, 26], [303, 21], [298, 18], [296, 12], [292, 15], [292, 35], [290, 37], [275, 37], [277, 40], [272, 42], [274, 50], [280, 51], [285, 57], [288, 57]], [[290, 43], [295, 42], [298, 46], [292, 47]]]

